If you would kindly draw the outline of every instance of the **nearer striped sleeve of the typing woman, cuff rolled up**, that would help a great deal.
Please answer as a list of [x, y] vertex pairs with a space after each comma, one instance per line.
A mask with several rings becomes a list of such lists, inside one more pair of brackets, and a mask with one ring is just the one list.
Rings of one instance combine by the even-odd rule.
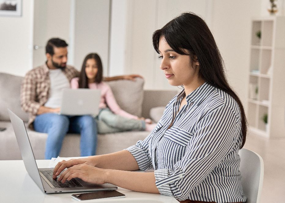
[[239, 118], [227, 106], [213, 109], [197, 122], [183, 158], [171, 169], [155, 170], [161, 194], [185, 200], [234, 147]]

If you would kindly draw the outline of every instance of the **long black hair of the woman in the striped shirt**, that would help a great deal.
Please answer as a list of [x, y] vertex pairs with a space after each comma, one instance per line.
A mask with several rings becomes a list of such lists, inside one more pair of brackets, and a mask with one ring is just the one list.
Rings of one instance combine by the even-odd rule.
[[[159, 39], [162, 36], [178, 54], [189, 55], [193, 62], [195, 61], [194, 56], [197, 56], [200, 65], [199, 78], [227, 92], [237, 101], [241, 111], [243, 139], [240, 148], [242, 148], [246, 142], [246, 114], [242, 102], [227, 82], [223, 58], [205, 21], [195, 13], [182, 13], [174, 18], [152, 35], [153, 47], [157, 53], [160, 53]], [[184, 52], [183, 49], [188, 50], [189, 53]]]

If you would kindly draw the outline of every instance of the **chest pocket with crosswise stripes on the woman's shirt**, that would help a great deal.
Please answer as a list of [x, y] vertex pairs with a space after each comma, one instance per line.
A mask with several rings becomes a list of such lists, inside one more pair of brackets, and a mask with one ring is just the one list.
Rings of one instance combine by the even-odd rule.
[[164, 133], [164, 138], [171, 142], [186, 147], [192, 138], [192, 134], [183, 130], [182, 128], [172, 127]]

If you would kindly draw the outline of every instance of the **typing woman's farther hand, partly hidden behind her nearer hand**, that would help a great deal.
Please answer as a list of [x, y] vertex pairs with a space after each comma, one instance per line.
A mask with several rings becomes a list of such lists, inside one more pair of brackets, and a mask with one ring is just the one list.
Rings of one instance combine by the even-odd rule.
[[95, 166], [96, 161], [94, 160], [95, 156], [89, 156], [87, 158], [81, 158], [81, 159], [70, 159], [68, 161], [63, 160], [61, 162], [58, 162], [58, 164], [54, 167], [54, 172], [53, 172], [53, 179], [56, 179], [56, 177], [65, 169], [69, 168], [81, 163], [85, 163], [90, 166]]

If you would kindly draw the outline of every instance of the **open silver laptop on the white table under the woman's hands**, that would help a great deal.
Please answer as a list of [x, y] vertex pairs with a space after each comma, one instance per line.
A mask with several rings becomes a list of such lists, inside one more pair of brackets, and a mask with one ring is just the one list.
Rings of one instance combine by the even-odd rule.
[[[10, 120], [17, 138], [24, 165], [28, 174], [45, 193], [65, 193], [82, 191], [117, 190], [117, 186], [106, 183], [103, 185], [91, 184], [80, 178], [73, 178], [66, 183], [52, 179], [54, 168], [38, 168], [28, 133], [24, 124], [15, 113], [8, 109]], [[59, 177], [59, 176], [58, 176]]]

